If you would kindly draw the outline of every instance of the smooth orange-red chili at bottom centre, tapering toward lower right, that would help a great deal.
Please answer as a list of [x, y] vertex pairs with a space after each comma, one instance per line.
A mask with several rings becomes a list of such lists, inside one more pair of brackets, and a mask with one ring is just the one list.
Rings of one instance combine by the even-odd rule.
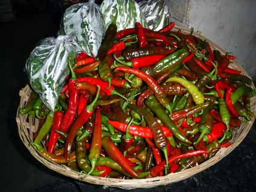
[[122, 152], [117, 148], [117, 146], [113, 143], [110, 137], [102, 138], [102, 147], [105, 152], [110, 156], [111, 159], [116, 161], [126, 172], [130, 173], [131, 176], [137, 178], [138, 175], [134, 171], [133, 167], [131, 167], [127, 161], [125, 160], [125, 156], [123, 156]]

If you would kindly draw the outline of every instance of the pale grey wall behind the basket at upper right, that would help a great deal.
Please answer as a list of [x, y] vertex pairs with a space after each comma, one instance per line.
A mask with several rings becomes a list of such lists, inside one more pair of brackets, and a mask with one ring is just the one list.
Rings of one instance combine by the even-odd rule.
[[236, 55], [255, 81], [256, 1], [190, 0], [189, 7], [189, 28]]

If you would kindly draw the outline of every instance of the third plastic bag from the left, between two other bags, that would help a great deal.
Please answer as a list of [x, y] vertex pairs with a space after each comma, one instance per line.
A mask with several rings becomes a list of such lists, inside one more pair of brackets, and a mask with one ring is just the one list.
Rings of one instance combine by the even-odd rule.
[[136, 22], [140, 22], [143, 27], [148, 27], [139, 5], [133, 0], [104, 0], [100, 9], [104, 14], [106, 28], [114, 20], [116, 13], [117, 31], [134, 28]]

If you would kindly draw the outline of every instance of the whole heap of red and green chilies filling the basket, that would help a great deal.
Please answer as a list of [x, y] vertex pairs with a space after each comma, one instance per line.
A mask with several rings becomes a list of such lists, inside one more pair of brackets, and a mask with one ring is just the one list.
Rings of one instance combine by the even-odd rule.
[[252, 81], [207, 41], [136, 23], [111, 23], [96, 58], [69, 58], [55, 111], [34, 92], [21, 114], [40, 119], [31, 143], [49, 161], [87, 175], [151, 178], [194, 167], [251, 120]]

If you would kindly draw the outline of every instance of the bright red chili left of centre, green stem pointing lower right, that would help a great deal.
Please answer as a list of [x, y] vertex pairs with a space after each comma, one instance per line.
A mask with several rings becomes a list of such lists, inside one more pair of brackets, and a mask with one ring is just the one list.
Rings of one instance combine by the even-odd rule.
[[[118, 68], [118, 67], [117, 67]], [[120, 96], [121, 98], [127, 100], [122, 94], [118, 93], [116, 90], [114, 90], [114, 87], [112, 85], [109, 86], [108, 82], [102, 81], [101, 78], [93, 78], [90, 76], [85, 76], [77, 79], [78, 82], [88, 82], [92, 85], [97, 85], [101, 88], [101, 91], [107, 94], [108, 96], [110, 95], [117, 95]]]

